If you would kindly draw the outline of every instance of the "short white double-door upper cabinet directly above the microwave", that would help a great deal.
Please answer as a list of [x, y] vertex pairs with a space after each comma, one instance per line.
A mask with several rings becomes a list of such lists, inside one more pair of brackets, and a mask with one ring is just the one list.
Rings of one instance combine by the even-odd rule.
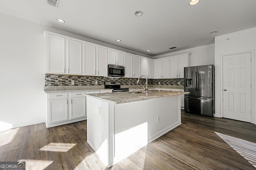
[[108, 64], [124, 66], [124, 53], [108, 49]]

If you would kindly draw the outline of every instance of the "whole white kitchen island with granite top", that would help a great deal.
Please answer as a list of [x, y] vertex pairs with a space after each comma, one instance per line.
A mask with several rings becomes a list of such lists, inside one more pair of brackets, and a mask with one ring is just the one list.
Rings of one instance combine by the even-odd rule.
[[87, 142], [110, 167], [180, 125], [183, 94], [187, 92], [87, 94]]

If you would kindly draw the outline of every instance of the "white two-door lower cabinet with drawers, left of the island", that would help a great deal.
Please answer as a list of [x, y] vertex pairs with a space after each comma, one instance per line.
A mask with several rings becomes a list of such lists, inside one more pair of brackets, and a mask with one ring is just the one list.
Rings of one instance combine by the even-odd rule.
[[47, 94], [46, 127], [86, 120], [85, 92]]

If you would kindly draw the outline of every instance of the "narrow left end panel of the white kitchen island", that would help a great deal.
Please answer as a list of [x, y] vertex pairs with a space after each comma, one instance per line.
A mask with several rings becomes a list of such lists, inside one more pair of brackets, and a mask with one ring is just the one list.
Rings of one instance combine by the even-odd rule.
[[87, 142], [110, 167], [114, 159], [114, 104], [87, 96], [86, 106]]

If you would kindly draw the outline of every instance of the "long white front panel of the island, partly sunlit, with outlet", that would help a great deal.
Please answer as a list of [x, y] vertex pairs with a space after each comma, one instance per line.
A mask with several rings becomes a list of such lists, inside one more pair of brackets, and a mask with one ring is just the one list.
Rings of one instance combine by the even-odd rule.
[[114, 162], [126, 158], [180, 124], [180, 96], [115, 105]]

